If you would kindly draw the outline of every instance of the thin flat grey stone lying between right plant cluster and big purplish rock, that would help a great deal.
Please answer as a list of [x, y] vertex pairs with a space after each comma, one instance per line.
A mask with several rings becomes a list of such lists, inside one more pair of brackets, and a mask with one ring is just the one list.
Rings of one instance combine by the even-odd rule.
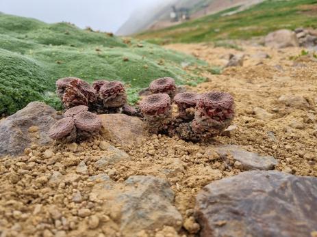
[[247, 152], [238, 145], [221, 145], [215, 149], [223, 156], [231, 154], [235, 161], [242, 164], [243, 170], [270, 170], [277, 165], [277, 160], [273, 156], [260, 156], [254, 152]]

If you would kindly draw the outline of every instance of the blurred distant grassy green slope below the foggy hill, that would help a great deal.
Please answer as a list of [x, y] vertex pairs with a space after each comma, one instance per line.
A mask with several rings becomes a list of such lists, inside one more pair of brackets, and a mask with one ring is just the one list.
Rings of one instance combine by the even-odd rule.
[[317, 0], [266, 0], [236, 14], [231, 8], [167, 29], [141, 33], [138, 38], [166, 42], [210, 42], [265, 36], [277, 29], [317, 27]]

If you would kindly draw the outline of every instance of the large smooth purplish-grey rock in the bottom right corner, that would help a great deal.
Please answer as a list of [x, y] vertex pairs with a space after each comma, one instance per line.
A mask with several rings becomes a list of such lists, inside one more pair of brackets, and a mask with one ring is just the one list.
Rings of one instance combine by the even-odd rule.
[[304, 237], [317, 231], [317, 178], [247, 171], [196, 197], [201, 236]]

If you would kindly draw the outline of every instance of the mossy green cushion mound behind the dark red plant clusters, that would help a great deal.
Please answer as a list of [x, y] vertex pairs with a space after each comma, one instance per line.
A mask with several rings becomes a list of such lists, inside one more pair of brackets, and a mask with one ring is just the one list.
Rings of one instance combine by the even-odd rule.
[[10, 115], [34, 100], [60, 109], [55, 81], [66, 76], [88, 82], [124, 81], [130, 102], [158, 77], [172, 76], [178, 84], [201, 80], [182, 65], [206, 64], [157, 45], [82, 30], [70, 23], [49, 25], [0, 14], [0, 114]]

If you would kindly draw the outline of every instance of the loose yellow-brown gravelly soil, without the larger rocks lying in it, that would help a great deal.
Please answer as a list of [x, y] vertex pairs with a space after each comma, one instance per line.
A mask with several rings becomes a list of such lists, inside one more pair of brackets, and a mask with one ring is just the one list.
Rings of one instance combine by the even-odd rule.
[[[144, 137], [138, 145], [120, 145], [129, 158], [98, 167], [99, 159], [112, 151], [103, 137], [81, 145], [27, 149], [24, 156], [0, 161], [0, 227], [2, 236], [122, 236], [120, 214], [105, 200], [91, 199], [100, 180], [90, 176], [106, 174], [121, 184], [130, 176], [167, 179], [175, 192], [175, 206], [183, 217], [179, 223], [196, 232], [192, 216], [194, 198], [203, 186], [240, 172], [229, 156], [227, 161], [214, 145], [237, 144], [246, 150], [271, 155], [276, 169], [300, 176], [317, 176], [317, 62], [299, 55], [301, 48], [272, 50], [242, 46], [243, 51], [213, 48], [203, 44], [166, 46], [224, 66], [227, 55], [244, 54], [244, 66], [226, 68], [223, 74], [203, 75], [206, 83], [188, 87], [194, 92], [220, 90], [236, 100], [236, 130], [231, 137], [217, 137], [211, 143], [187, 143], [177, 137]], [[264, 52], [268, 58], [263, 58]], [[84, 161], [84, 166], [80, 166]], [[79, 165], [79, 166], [78, 166]], [[53, 177], [58, 171], [64, 178]], [[55, 173], [56, 174], [56, 173]], [[120, 189], [120, 186], [119, 188]], [[110, 190], [112, 192], [118, 191]], [[133, 220], [131, 220], [133, 221]], [[141, 228], [142, 229], [142, 228]], [[138, 236], [194, 236], [185, 228], [140, 231]]]

